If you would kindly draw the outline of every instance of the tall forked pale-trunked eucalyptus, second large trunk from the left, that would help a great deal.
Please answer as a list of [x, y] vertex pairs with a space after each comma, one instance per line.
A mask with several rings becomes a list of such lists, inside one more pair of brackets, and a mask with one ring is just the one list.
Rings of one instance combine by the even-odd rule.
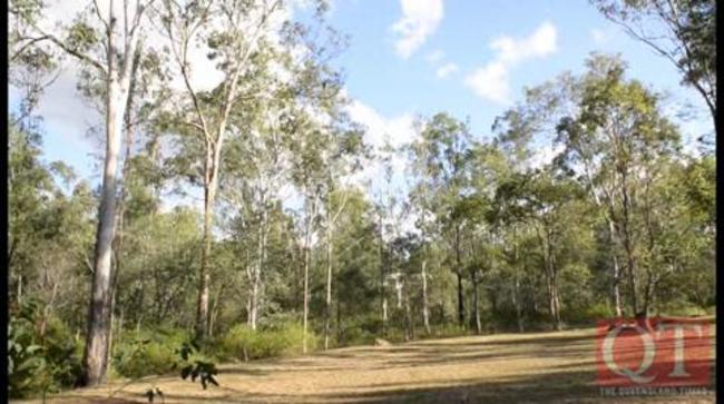
[[[222, 167], [224, 142], [232, 132], [229, 117], [245, 98], [258, 97], [258, 80], [267, 68], [264, 59], [272, 51], [270, 36], [277, 27], [270, 20], [283, 11], [280, 1], [162, 1], [156, 12], [165, 49], [170, 53], [183, 90], [177, 99], [174, 121], [195, 137], [204, 189], [204, 237], [200, 254], [196, 335], [205, 337], [208, 327], [209, 268], [214, 203]], [[203, 66], [202, 51], [212, 66]], [[203, 55], [203, 53], [202, 53]], [[211, 89], [198, 85], [197, 69], [213, 69], [221, 78]], [[196, 81], [195, 81], [196, 79]], [[208, 86], [207, 86], [208, 87]], [[182, 130], [178, 130], [182, 131]]]

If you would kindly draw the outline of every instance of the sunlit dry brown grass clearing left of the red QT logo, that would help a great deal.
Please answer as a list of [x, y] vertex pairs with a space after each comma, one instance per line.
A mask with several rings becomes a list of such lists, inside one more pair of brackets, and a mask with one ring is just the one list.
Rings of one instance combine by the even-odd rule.
[[207, 391], [165, 376], [77, 390], [49, 402], [145, 403], [144, 392], [151, 386], [164, 392], [168, 404], [714, 402], [713, 396], [600, 397], [594, 334], [586, 328], [342, 348], [225, 364], [219, 366], [221, 387]]

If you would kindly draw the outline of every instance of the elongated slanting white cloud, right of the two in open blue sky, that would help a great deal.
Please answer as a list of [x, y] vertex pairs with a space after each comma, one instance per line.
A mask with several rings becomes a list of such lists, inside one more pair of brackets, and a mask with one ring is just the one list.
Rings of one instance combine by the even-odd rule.
[[478, 96], [493, 102], [510, 101], [510, 69], [521, 61], [542, 58], [557, 50], [556, 27], [544, 22], [528, 38], [499, 37], [490, 42], [496, 57], [488, 65], [466, 77], [464, 82]]

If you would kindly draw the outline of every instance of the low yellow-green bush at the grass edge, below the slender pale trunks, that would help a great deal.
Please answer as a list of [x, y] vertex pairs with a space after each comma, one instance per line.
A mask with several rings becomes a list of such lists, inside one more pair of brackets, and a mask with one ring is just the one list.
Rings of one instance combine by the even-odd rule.
[[[252, 329], [246, 324], [232, 327], [218, 341], [217, 356], [242, 361], [261, 359], [302, 353], [304, 329], [297, 324]], [[314, 351], [319, 338], [307, 329], [307, 351]]]

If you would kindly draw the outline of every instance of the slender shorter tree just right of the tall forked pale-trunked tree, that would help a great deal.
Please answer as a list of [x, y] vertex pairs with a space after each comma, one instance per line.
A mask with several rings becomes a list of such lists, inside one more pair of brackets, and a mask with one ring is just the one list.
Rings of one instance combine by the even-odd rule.
[[[245, 134], [229, 139], [226, 176], [221, 180], [222, 197], [235, 210], [244, 248], [248, 285], [247, 322], [256, 329], [260, 294], [267, 262], [271, 211], [280, 204], [281, 189], [288, 184], [294, 132], [285, 130], [284, 121], [292, 111], [290, 91], [285, 86], [267, 97], [246, 102], [246, 108], [231, 115], [234, 130]], [[244, 235], [243, 233], [247, 233]]]

